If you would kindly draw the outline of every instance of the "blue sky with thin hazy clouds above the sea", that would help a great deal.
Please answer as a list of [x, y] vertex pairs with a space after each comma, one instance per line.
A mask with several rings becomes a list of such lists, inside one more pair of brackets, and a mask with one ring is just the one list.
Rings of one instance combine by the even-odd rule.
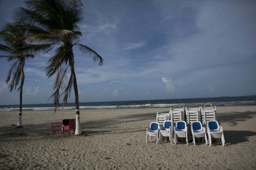
[[[186, 99], [256, 94], [256, 1], [83, 0], [74, 48], [79, 102]], [[0, 0], [0, 27], [22, 0]], [[24, 104], [52, 103], [45, 66], [54, 51], [26, 60]], [[0, 105], [19, 104], [0, 59]], [[49, 100], [48, 100], [49, 99]], [[68, 103], [74, 102], [74, 90]]]

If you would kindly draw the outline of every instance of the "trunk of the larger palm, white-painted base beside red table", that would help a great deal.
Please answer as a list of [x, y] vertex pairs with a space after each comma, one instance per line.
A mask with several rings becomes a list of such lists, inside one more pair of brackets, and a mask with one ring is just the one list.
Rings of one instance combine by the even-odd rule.
[[76, 97], [76, 132], [75, 134], [78, 135], [78, 134], [81, 134], [81, 125], [80, 125], [78, 88], [77, 88], [76, 73], [74, 68], [74, 57], [72, 57], [72, 59], [69, 60], [69, 66], [70, 66], [71, 74], [73, 76], [74, 92]]

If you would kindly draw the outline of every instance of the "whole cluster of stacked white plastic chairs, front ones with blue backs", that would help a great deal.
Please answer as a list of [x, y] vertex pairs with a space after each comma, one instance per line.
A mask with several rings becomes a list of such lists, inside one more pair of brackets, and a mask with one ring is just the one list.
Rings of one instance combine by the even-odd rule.
[[[152, 122], [147, 128], [146, 142], [148, 136], [156, 136], [157, 143], [170, 141], [176, 144], [178, 139], [193, 139], [195, 145], [196, 139], [202, 139], [202, 142], [207, 145], [212, 145], [212, 140], [221, 142], [225, 145], [223, 127], [220, 127], [216, 120], [216, 106], [205, 104], [204, 107], [193, 108], [170, 108], [168, 113], [158, 113], [156, 122]], [[208, 137], [208, 139], [207, 139]]]

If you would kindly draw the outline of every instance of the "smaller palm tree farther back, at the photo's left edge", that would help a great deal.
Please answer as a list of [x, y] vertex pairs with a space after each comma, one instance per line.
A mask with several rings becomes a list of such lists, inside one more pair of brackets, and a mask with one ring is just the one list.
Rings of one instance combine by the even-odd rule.
[[[7, 24], [6, 24], [7, 25]], [[26, 37], [21, 30], [5, 30], [0, 32], [0, 38], [3, 44], [0, 44], [0, 52], [3, 55], [0, 57], [6, 57], [8, 61], [13, 61], [7, 77], [6, 83], [9, 84], [10, 92], [13, 89], [17, 89], [20, 92], [20, 104], [19, 104], [19, 121], [17, 127], [22, 127], [22, 90], [25, 80], [24, 66], [26, 59], [33, 59], [35, 53], [40, 50], [45, 50], [51, 45], [29, 45], [26, 43]]]

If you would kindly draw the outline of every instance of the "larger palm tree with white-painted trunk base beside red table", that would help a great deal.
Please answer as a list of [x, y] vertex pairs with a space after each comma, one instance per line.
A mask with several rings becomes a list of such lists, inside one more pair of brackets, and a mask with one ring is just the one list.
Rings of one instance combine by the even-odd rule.
[[[77, 79], [74, 67], [74, 47], [83, 53], [92, 56], [93, 61], [102, 66], [102, 57], [81, 43], [82, 36], [79, 31], [79, 23], [83, 20], [81, 0], [28, 0], [27, 8], [19, 8], [16, 11], [16, 20], [21, 24], [9, 25], [10, 29], [26, 30], [31, 42], [54, 43], [58, 45], [55, 54], [48, 60], [48, 78], [56, 76], [54, 81], [54, 93], [52, 98], [54, 106], [58, 107], [60, 97], [63, 96], [63, 103], [67, 103], [72, 87], [76, 97], [76, 132], [81, 134], [79, 96]], [[70, 74], [68, 78], [68, 74]], [[51, 98], [50, 97], [50, 98]]]

